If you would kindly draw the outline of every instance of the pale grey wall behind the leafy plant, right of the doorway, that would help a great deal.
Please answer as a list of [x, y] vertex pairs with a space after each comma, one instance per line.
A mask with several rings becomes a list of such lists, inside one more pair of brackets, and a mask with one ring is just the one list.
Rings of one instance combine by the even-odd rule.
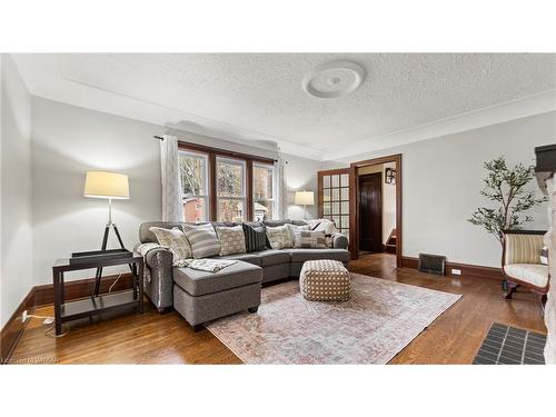
[[[328, 161], [326, 166], [337, 168], [356, 160], [401, 153], [404, 255], [440, 254], [455, 262], [499, 267], [498, 241], [467, 221], [477, 207], [492, 205], [479, 195], [485, 177], [483, 163], [504, 155], [510, 166], [534, 165], [534, 148], [554, 142], [556, 112], [552, 111]], [[530, 188], [538, 190], [535, 182]], [[530, 215], [535, 221], [527, 228], [547, 228], [546, 205], [530, 210]]]

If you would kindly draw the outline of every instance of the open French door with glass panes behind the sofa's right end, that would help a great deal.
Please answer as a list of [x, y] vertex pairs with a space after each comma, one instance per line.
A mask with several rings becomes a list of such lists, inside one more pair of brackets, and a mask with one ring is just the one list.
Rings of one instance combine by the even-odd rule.
[[349, 168], [318, 172], [318, 216], [349, 237]]

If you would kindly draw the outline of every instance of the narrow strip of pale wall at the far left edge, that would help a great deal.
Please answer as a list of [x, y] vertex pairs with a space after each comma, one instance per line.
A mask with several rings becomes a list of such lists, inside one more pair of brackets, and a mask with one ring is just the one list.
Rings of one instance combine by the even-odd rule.
[[31, 98], [10, 56], [1, 57], [0, 327], [32, 287]]

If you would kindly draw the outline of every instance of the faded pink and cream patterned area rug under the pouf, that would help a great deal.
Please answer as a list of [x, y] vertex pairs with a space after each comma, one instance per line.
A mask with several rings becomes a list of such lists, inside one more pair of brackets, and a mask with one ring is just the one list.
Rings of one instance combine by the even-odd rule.
[[262, 289], [258, 314], [207, 328], [246, 364], [386, 364], [461, 297], [351, 278], [349, 301], [307, 301], [289, 281]]

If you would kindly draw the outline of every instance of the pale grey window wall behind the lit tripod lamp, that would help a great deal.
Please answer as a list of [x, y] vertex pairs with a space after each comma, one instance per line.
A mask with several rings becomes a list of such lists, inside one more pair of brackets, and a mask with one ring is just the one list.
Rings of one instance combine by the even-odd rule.
[[[33, 280], [51, 282], [54, 259], [72, 251], [100, 248], [107, 221], [107, 201], [83, 197], [85, 173], [106, 169], [129, 176], [130, 199], [117, 200], [115, 222], [123, 242], [132, 248], [138, 241], [139, 225], [161, 217], [160, 150], [153, 135], [167, 132], [162, 126], [88, 110], [41, 98], [32, 98], [33, 163]], [[171, 130], [180, 139], [206, 146], [276, 158], [278, 151], [252, 148], [225, 140]], [[316, 189], [320, 162], [294, 156], [286, 176], [291, 189]], [[295, 180], [298, 179], [298, 180]], [[302, 218], [302, 209], [292, 209]], [[311, 212], [316, 212], [316, 207]], [[291, 212], [288, 212], [290, 215]], [[117, 247], [113, 235], [109, 245]], [[107, 274], [125, 271], [111, 268]], [[75, 272], [69, 279], [93, 276]]]

